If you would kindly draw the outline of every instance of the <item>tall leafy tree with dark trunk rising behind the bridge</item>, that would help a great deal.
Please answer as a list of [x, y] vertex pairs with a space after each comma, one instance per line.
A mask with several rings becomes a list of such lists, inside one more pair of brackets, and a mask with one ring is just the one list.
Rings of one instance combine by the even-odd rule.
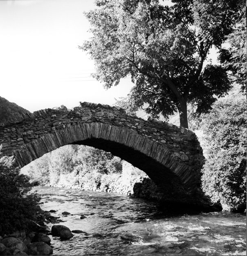
[[230, 83], [219, 65], [203, 64], [209, 49], [221, 47], [238, 17], [236, 0], [97, 0], [85, 13], [92, 38], [80, 48], [96, 65], [93, 76], [106, 88], [130, 76], [130, 102], [148, 103], [147, 113], [179, 112], [188, 128], [187, 103], [205, 112]]

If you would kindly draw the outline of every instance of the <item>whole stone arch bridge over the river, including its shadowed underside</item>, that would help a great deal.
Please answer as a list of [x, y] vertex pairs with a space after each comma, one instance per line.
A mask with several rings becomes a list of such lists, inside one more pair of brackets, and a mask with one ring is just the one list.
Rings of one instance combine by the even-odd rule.
[[202, 148], [190, 130], [149, 118], [145, 121], [108, 105], [81, 103], [39, 110], [18, 123], [0, 127], [2, 155], [23, 167], [67, 144], [110, 151], [143, 170], [166, 197], [200, 200]]

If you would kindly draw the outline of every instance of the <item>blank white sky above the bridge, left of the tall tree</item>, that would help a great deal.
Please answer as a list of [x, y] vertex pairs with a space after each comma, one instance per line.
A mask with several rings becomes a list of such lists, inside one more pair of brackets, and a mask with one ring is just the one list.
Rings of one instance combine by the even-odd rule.
[[105, 90], [78, 45], [94, 0], [0, 0], [0, 96], [33, 112], [79, 101], [113, 105], [132, 83]]

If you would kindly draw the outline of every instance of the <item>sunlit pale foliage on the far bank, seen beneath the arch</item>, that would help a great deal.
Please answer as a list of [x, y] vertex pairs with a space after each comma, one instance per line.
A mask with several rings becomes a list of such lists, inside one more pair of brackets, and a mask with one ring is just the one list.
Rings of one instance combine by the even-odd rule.
[[[40, 157], [25, 167], [31, 180], [55, 186], [67, 175], [70, 185], [98, 184], [102, 175], [121, 173], [119, 157], [88, 146], [67, 145]], [[71, 174], [71, 175], [70, 175]]]

